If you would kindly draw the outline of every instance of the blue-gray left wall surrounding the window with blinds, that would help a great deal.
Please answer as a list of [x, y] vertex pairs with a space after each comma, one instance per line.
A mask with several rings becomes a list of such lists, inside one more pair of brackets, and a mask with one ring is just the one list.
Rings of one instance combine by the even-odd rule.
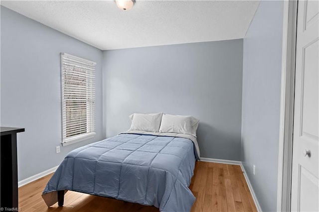
[[[61, 146], [60, 52], [97, 62], [96, 135]], [[18, 180], [59, 165], [65, 155], [104, 138], [102, 51], [1, 6], [1, 126], [17, 135]], [[61, 152], [55, 153], [55, 147]]]

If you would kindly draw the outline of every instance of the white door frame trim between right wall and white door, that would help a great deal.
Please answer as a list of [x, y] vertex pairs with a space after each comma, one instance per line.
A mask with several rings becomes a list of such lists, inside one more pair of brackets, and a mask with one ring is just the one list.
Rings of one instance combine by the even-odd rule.
[[277, 211], [291, 211], [298, 0], [284, 1]]

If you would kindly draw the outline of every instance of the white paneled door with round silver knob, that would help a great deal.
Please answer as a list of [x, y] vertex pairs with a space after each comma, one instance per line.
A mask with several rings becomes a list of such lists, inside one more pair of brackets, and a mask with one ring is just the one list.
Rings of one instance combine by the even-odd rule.
[[319, 1], [299, 0], [291, 211], [319, 211]]

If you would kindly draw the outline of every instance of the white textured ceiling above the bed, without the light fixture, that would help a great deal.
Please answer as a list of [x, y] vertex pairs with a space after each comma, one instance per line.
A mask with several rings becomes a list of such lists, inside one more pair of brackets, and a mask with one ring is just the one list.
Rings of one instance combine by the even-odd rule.
[[102, 50], [243, 38], [259, 0], [3, 1], [31, 19]]

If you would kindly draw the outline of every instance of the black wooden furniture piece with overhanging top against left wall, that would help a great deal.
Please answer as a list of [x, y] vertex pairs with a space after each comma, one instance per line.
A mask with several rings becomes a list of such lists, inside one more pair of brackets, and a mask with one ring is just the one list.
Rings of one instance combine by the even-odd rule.
[[16, 133], [24, 128], [0, 127], [0, 208], [18, 207]]

